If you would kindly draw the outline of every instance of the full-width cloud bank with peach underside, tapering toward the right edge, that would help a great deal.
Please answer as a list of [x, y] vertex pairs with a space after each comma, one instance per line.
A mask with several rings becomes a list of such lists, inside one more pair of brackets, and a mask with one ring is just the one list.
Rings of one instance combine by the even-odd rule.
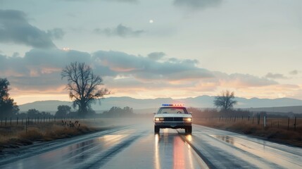
[[[163, 56], [162, 52], [153, 52]], [[59, 49], [32, 49], [25, 56], [0, 54], [0, 75], [11, 82], [12, 92], [66, 93], [66, 80], [61, 70], [70, 62], [85, 62], [94, 73], [103, 77], [103, 83], [118, 94], [137, 96], [198, 96], [218, 89], [256, 90], [262, 87], [277, 89], [281, 84], [266, 77], [247, 74], [227, 74], [199, 68], [198, 61], [179, 58], [153, 59], [120, 51], [82, 51]], [[293, 87], [289, 87], [293, 88]], [[280, 90], [284, 89], [282, 87]], [[297, 89], [295, 89], [297, 90]], [[170, 92], [169, 92], [170, 91]], [[171, 92], [175, 91], [175, 92]], [[159, 94], [159, 95], [156, 95]], [[191, 95], [190, 95], [191, 94]]]

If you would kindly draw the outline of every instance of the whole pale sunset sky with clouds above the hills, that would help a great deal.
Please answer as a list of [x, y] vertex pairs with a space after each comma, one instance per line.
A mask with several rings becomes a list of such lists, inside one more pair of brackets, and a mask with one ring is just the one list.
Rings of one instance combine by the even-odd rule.
[[302, 1], [0, 0], [0, 78], [17, 104], [69, 101], [74, 61], [109, 96], [302, 99]]

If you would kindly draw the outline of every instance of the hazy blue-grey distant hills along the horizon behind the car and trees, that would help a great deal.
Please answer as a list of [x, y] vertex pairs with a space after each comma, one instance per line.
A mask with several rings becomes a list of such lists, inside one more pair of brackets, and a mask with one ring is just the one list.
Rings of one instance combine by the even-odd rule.
[[[94, 104], [92, 108], [95, 111], [106, 111], [109, 110], [112, 106], [119, 106], [121, 108], [125, 106], [130, 106], [134, 110], [139, 109], [149, 109], [155, 110], [161, 104], [170, 104], [170, 103], [182, 103], [187, 107], [197, 107], [197, 108], [213, 108], [213, 100], [215, 96], [197, 96], [189, 97], [186, 99], [171, 99], [171, 98], [156, 98], [156, 99], [134, 99], [132, 97], [108, 97], [106, 99], [101, 99], [101, 104]], [[299, 108], [291, 109], [293, 106], [302, 106], [302, 100], [299, 99], [290, 99], [290, 98], [281, 98], [281, 99], [245, 99], [237, 97], [236, 100], [238, 104], [234, 108], [251, 108], [251, 111], [256, 111], [260, 109], [256, 108], [266, 108], [265, 110], [274, 110], [272, 107], [287, 107], [275, 109], [275, 111], [282, 112], [293, 112], [297, 113]], [[39, 111], [48, 111], [56, 112], [59, 105], [68, 105], [71, 106], [70, 101], [35, 101], [30, 104], [20, 105], [20, 111], [28, 111], [30, 108], [36, 108]], [[262, 109], [261, 109], [262, 110]], [[264, 109], [263, 109], [264, 110]], [[301, 110], [301, 109], [300, 109]], [[302, 110], [301, 110], [302, 111]], [[299, 112], [302, 113], [302, 112]]]

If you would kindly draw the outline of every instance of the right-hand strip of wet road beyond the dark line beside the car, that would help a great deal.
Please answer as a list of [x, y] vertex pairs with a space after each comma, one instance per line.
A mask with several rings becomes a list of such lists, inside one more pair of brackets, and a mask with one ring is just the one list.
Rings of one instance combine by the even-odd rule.
[[302, 168], [302, 149], [298, 147], [199, 125], [185, 139], [213, 168]]

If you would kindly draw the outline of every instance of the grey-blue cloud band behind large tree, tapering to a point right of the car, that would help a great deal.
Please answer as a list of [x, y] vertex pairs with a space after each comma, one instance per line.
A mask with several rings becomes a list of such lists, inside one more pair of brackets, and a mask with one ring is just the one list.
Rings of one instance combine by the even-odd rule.
[[185, 88], [185, 85], [193, 84], [196, 80], [213, 78], [209, 70], [197, 68], [191, 63], [194, 61], [190, 62], [189, 59], [158, 62], [149, 57], [118, 51], [88, 54], [59, 49], [32, 49], [25, 56], [0, 54], [0, 74], [8, 77], [13, 88], [19, 91], [58, 89], [65, 84], [61, 80], [61, 70], [74, 61], [85, 62], [92, 66], [94, 73], [113, 80], [106, 82], [110, 86], [116, 82], [127, 82], [131, 86], [132, 82], [132, 85], [141, 84], [141, 88]]

